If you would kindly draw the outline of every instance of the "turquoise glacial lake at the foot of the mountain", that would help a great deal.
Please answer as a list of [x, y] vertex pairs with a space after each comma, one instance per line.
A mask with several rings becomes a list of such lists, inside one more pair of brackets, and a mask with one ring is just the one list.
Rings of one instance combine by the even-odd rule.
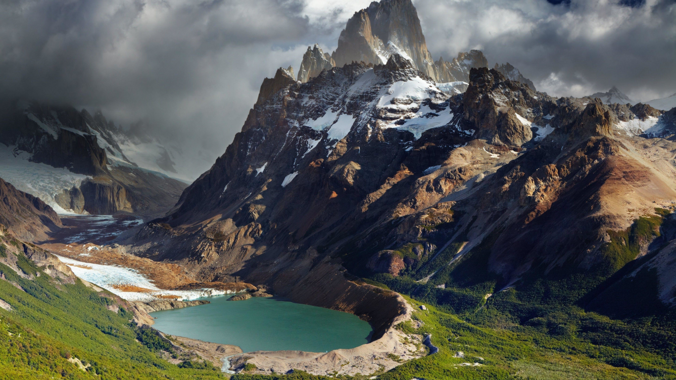
[[230, 297], [201, 298], [211, 304], [153, 312], [153, 327], [170, 335], [233, 344], [244, 352], [355, 348], [368, 343], [372, 331], [346, 312], [277, 297], [228, 301]]

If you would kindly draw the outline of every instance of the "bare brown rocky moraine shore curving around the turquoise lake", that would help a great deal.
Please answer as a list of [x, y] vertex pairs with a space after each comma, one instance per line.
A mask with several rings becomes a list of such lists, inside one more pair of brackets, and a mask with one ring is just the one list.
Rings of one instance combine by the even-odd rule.
[[[155, 262], [149, 258], [141, 258], [129, 254], [127, 252], [128, 247], [114, 244], [112, 241], [102, 244], [47, 241], [43, 242], [41, 246], [68, 256], [70, 260], [78, 262], [82, 260], [84, 266], [87, 266], [87, 263], [101, 264], [139, 272], [146, 280], [152, 282], [151, 287], [154, 289], [149, 289], [152, 291], [164, 292], [166, 289], [174, 289], [175, 291], [178, 291], [178, 289], [181, 291], [209, 290], [207, 293], [195, 293], [190, 297], [176, 297], [177, 299], [194, 300], [201, 295], [228, 295], [245, 291], [250, 292], [256, 289], [254, 285], [247, 283], [219, 284], [220, 289], [218, 290], [220, 291], [218, 292], [214, 292], [214, 289], [200, 289], [199, 285], [202, 285], [202, 283], [195, 282], [189, 272], [179, 263]], [[412, 335], [404, 335], [394, 328], [397, 323], [410, 320], [411, 307], [401, 295], [368, 285], [360, 279], [348, 279], [347, 275], [344, 274], [344, 268], [327, 258], [314, 263], [312, 260], [302, 260], [300, 264], [302, 269], [295, 270], [291, 277], [277, 277], [272, 280], [267, 275], [260, 276], [259, 274], [249, 276], [251, 277], [249, 280], [265, 284], [266, 287], [274, 290], [275, 293], [284, 295], [295, 304], [319, 306], [327, 310], [337, 310], [357, 316], [370, 325], [370, 333], [367, 337], [364, 337], [365, 343], [354, 348], [341, 348], [330, 352], [249, 351], [245, 355], [235, 354], [231, 357], [232, 369], [241, 370], [241, 366], [251, 363], [256, 365], [255, 373], [261, 374], [286, 372], [280, 372], [283, 369], [287, 369], [287, 371], [302, 369], [314, 375], [329, 375], [335, 372], [345, 375], [371, 374], [382, 369], [387, 371], [406, 360], [425, 354], [425, 352], [420, 352], [416, 348], [415, 343], [417, 340], [422, 342], [422, 337], [418, 339], [418, 337]], [[75, 266], [75, 268], [78, 267]], [[97, 283], [97, 279], [93, 280], [92, 283]], [[212, 285], [212, 283], [204, 283], [203, 285]], [[224, 287], [232, 285], [234, 285], [232, 289], [224, 289]], [[112, 291], [112, 293], [120, 293], [120, 289], [107, 290]], [[147, 295], [145, 290], [137, 293]], [[124, 295], [120, 294], [120, 297], [125, 298]], [[161, 295], [160, 299], [163, 298], [162, 293], [159, 295]], [[156, 299], [158, 298], [153, 298], [153, 300]], [[231, 304], [239, 304], [240, 302], [231, 302]], [[192, 309], [192, 307], [188, 309]], [[151, 319], [148, 322], [153, 324], [154, 320]], [[158, 331], [160, 330], [158, 329]], [[180, 336], [180, 334], [176, 335]], [[195, 338], [187, 339], [199, 341]], [[408, 346], [402, 344], [404, 339], [408, 339], [407, 341], [411, 344], [408, 344]], [[216, 339], [207, 336], [202, 342], [218, 345], [218, 343], [212, 343], [212, 340]], [[221, 344], [221, 346], [223, 345]], [[393, 360], [393, 355], [397, 357], [397, 360]], [[351, 364], [347, 366], [347, 363]]]

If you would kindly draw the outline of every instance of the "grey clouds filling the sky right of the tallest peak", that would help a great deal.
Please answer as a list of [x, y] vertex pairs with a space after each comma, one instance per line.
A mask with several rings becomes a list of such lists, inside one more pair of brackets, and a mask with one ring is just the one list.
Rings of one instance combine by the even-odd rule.
[[612, 85], [635, 101], [676, 93], [673, 0], [418, 0], [416, 7], [433, 54], [481, 49], [491, 65], [510, 62], [550, 95]]

